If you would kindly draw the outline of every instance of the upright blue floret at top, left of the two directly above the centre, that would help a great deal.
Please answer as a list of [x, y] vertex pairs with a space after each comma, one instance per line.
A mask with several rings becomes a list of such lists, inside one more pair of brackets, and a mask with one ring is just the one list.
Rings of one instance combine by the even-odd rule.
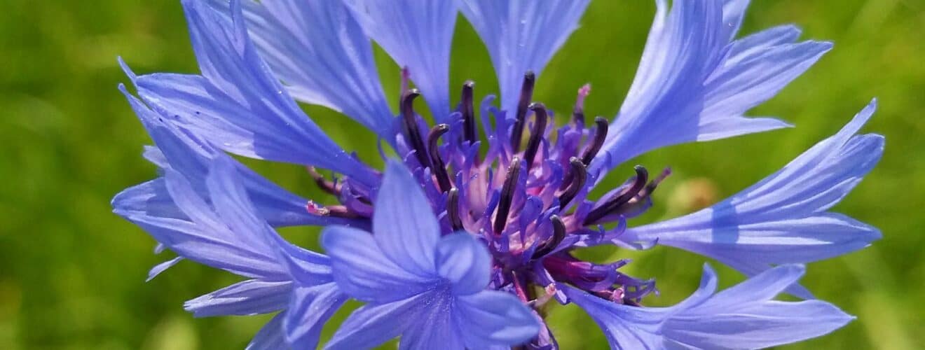
[[366, 35], [407, 66], [438, 123], [450, 123], [454, 0], [344, 0]]

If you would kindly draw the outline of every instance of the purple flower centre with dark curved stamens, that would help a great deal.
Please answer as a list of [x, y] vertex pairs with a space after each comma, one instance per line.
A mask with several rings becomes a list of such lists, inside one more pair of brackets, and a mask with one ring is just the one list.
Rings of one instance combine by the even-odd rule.
[[[535, 80], [532, 72], [524, 75], [512, 116], [491, 106], [493, 97], [488, 96], [478, 109], [480, 120], [475, 115], [475, 84], [467, 81], [450, 115], [453, 122], [434, 127], [427, 127], [414, 112], [413, 101], [420, 93], [405, 90], [395, 149], [421, 182], [444, 233], [464, 230], [484, 240], [495, 258], [494, 288], [511, 289], [526, 302], [534, 299], [532, 285], [565, 282], [609, 299], [638, 301], [654, 291], [654, 283], [619, 272], [628, 261], [597, 265], [574, 259], [570, 250], [621, 235], [626, 219], [651, 206], [652, 192], [670, 170], [649, 180], [646, 168], [637, 165], [635, 175], [622, 186], [600, 199], [587, 199], [601, 175], [589, 173], [588, 165], [604, 144], [609, 124], [597, 117], [594, 127], [586, 128], [586, 85], [578, 90], [570, 120], [555, 128], [546, 106], [531, 102]], [[429, 130], [426, 139], [424, 130]], [[341, 204], [310, 203], [309, 211], [354, 218], [372, 215], [369, 188], [349, 178], [338, 182], [311, 173]]]

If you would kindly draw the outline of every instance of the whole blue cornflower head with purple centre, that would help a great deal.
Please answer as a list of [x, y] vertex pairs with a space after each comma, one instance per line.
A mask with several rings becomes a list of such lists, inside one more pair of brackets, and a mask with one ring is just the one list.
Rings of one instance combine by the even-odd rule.
[[[856, 135], [875, 102], [781, 171], [703, 211], [631, 224], [671, 174], [650, 175], [641, 165], [623, 185], [589, 196], [611, 169], [646, 151], [790, 127], [746, 113], [832, 44], [798, 42], [793, 26], [736, 39], [747, 1], [657, 0], [619, 114], [586, 120], [586, 85], [559, 127], [533, 91], [578, 28], [586, 0], [181, 3], [201, 73], [137, 76], [123, 63], [138, 97], [120, 89], [154, 139], [144, 156], [163, 176], [129, 187], [113, 207], [154, 236], [157, 252], [177, 253], [149, 278], [184, 259], [247, 278], [186, 308], [196, 316], [278, 312], [252, 348], [316, 347], [348, 299], [364, 305], [327, 348], [395, 337], [402, 348], [556, 348], [543, 320], [551, 300], [586, 309], [613, 348], [758, 348], [852, 320], [823, 301], [772, 298], [811, 297], [796, 284], [800, 264], [880, 238], [876, 228], [829, 211], [880, 159], [883, 138]], [[472, 81], [450, 105], [458, 12], [486, 43], [499, 106], [490, 95], [476, 104]], [[403, 67], [397, 115], [371, 42]], [[421, 96], [434, 126], [415, 111]], [[384, 172], [362, 163], [297, 100], [352, 118], [399, 159], [386, 160]], [[226, 151], [305, 165], [338, 203], [302, 199]], [[272, 228], [291, 225], [325, 226], [329, 256], [293, 246]], [[623, 272], [628, 259], [594, 263], [573, 254], [598, 245], [678, 247], [748, 279], [714, 295], [707, 268], [693, 296], [649, 308], [656, 284]]]

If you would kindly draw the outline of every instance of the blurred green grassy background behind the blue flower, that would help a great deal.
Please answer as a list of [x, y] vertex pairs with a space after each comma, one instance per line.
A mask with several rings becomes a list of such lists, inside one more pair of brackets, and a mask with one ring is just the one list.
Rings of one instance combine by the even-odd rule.
[[[744, 33], [796, 23], [805, 38], [835, 42], [808, 74], [751, 115], [776, 115], [796, 128], [672, 147], [635, 160], [674, 175], [657, 205], [635, 224], [722, 199], [778, 169], [831, 134], [871, 97], [880, 109], [866, 130], [886, 136], [880, 165], [836, 211], [880, 227], [873, 247], [810, 265], [806, 284], [817, 296], [857, 315], [829, 336], [788, 349], [912, 349], [925, 345], [925, 4], [913, 0], [755, 1]], [[154, 241], [110, 212], [124, 187], [153, 178], [140, 156], [150, 140], [117, 92], [126, 82], [122, 55], [140, 73], [196, 72], [177, 1], [5, 0], [0, 19], [0, 348], [234, 349], [247, 344], [266, 317], [193, 319], [182, 302], [235, 281], [190, 262], [144, 283], [166, 259]], [[583, 27], [538, 82], [536, 100], [571, 108], [574, 91], [593, 84], [588, 114], [616, 114], [646, 39], [654, 6], [648, 1], [596, 0]], [[497, 91], [487, 54], [459, 21], [451, 82], [478, 82]], [[388, 93], [398, 72], [377, 60]], [[454, 93], [455, 95], [455, 93]], [[377, 160], [368, 132], [318, 107], [310, 115], [347, 150]], [[322, 196], [294, 165], [249, 162], [306, 197]], [[611, 184], [629, 174], [623, 168]], [[315, 246], [314, 229], [285, 235]], [[659, 280], [652, 305], [674, 303], [697, 286], [703, 259], [671, 248], [584, 253], [590, 259], [633, 257], [639, 277]], [[714, 264], [714, 266], [718, 266]], [[722, 285], [742, 280], [721, 269]], [[343, 316], [343, 315], [340, 315]], [[563, 348], [605, 348], [603, 335], [581, 311], [550, 316]], [[328, 329], [326, 334], [332, 330]]]

